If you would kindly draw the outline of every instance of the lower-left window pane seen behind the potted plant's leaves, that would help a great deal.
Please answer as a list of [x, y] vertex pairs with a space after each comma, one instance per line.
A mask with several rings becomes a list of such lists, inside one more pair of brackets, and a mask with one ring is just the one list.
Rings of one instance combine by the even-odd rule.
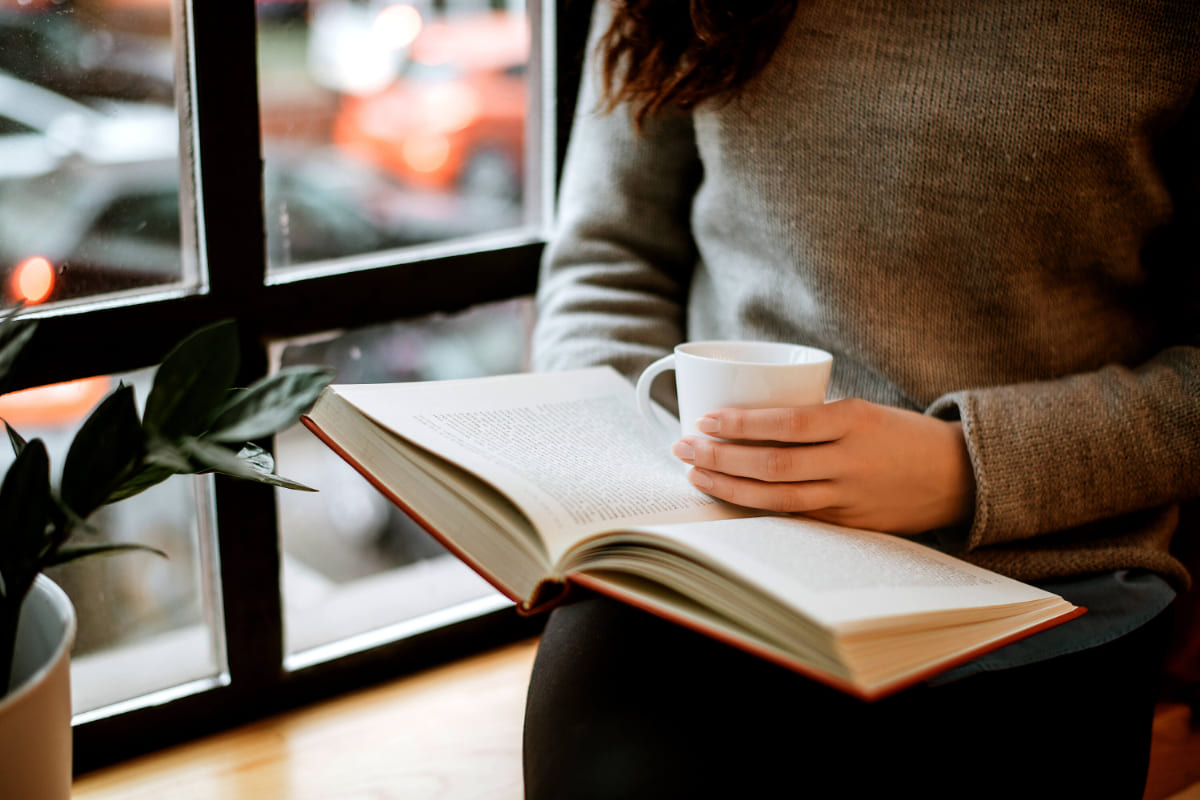
[[[145, 369], [13, 392], [0, 397], [0, 417], [26, 439], [46, 443], [56, 482], [71, 439], [91, 409], [119, 380], [143, 402], [151, 377]], [[0, 469], [7, 469], [11, 450], [0, 452]], [[131, 552], [47, 571], [71, 597], [79, 620], [71, 655], [77, 715], [223, 680], [208, 507], [208, 479], [170, 477], [102, 507], [89, 519], [95, 530], [74, 534], [79, 543], [134, 542], [167, 558]]]

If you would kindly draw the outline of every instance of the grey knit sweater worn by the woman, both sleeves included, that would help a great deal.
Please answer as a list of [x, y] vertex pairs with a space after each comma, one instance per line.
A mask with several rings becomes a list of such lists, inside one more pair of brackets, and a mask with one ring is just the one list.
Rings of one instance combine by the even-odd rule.
[[634, 377], [685, 338], [824, 348], [832, 397], [961, 419], [960, 555], [1182, 585], [1198, 86], [1195, 0], [802, 0], [737, 100], [642, 134], [598, 110], [589, 65], [534, 366]]

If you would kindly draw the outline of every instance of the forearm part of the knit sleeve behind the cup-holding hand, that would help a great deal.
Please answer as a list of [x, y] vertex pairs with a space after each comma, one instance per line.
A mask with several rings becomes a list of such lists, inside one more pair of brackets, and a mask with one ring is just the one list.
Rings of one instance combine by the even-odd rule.
[[954, 392], [976, 473], [967, 549], [1200, 497], [1200, 348], [1138, 368]]

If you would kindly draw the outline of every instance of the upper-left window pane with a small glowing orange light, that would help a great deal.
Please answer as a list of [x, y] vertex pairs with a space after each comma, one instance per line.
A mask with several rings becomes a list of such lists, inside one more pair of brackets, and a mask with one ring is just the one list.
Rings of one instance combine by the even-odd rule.
[[5, 305], [196, 282], [174, 97], [168, 0], [0, 4]]

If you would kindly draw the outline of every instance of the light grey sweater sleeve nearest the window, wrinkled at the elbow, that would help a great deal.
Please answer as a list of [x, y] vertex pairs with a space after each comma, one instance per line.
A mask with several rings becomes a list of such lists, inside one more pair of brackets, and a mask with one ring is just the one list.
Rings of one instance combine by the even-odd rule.
[[695, 266], [691, 198], [700, 180], [686, 115], [634, 130], [629, 109], [601, 108], [598, 2], [568, 146], [556, 229], [542, 259], [535, 369], [607, 363], [630, 378], [683, 339]]

